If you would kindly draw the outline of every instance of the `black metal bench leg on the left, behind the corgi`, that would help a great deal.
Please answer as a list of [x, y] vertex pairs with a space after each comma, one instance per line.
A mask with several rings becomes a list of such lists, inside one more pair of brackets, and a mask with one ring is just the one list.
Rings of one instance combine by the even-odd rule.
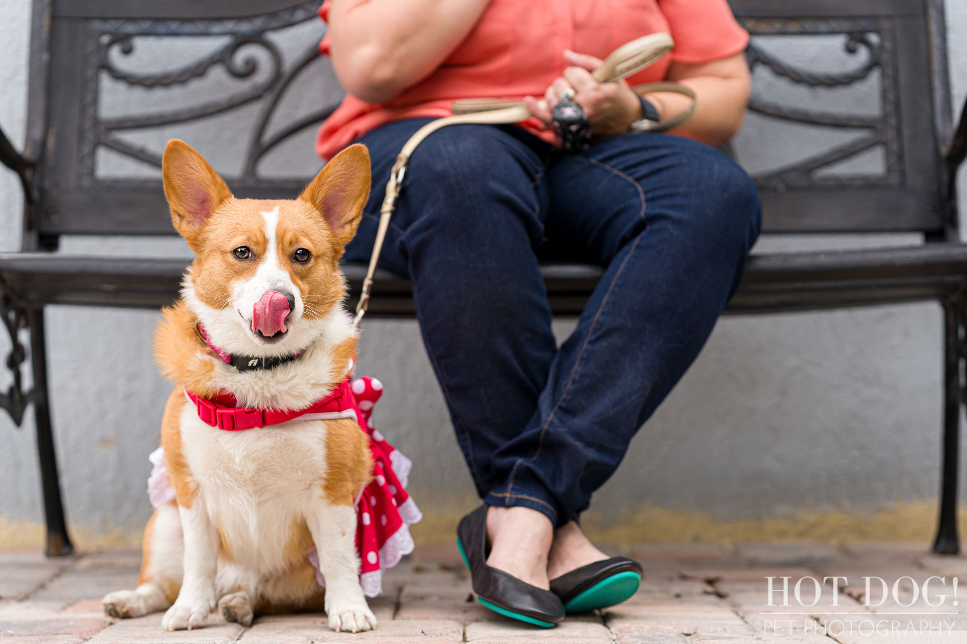
[[47, 352], [44, 337], [44, 308], [31, 309], [30, 362], [34, 371], [34, 418], [37, 424], [37, 452], [41, 461], [41, 483], [44, 488], [44, 518], [47, 523], [46, 554], [63, 557], [73, 553], [73, 543], [67, 534], [64, 504], [61, 502], [60, 479], [57, 476], [57, 454], [50, 425], [50, 405], [47, 395]]

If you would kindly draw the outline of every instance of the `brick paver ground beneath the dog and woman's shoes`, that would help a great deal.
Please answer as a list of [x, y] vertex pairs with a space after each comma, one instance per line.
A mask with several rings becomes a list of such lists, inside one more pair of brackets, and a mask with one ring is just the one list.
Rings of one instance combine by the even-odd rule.
[[[967, 644], [967, 589], [959, 587], [967, 581], [967, 558], [929, 555], [923, 543], [643, 545], [623, 551], [645, 567], [635, 597], [571, 616], [555, 629], [537, 629], [484, 609], [454, 548], [418, 548], [387, 572], [384, 597], [370, 602], [379, 629], [356, 635], [331, 632], [316, 613], [261, 617], [249, 629], [213, 615], [208, 628], [174, 633], [161, 630], [161, 614], [112, 621], [101, 613], [100, 599], [133, 587], [137, 553], [48, 560], [0, 552], [0, 644]], [[834, 576], [840, 578], [826, 579], [817, 597], [809, 577], [823, 584]], [[865, 576], [882, 578], [887, 597], [875, 578], [867, 596]], [[775, 578], [774, 605], [768, 577]], [[781, 605], [782, 577], [789, 578], [788, 605]]]

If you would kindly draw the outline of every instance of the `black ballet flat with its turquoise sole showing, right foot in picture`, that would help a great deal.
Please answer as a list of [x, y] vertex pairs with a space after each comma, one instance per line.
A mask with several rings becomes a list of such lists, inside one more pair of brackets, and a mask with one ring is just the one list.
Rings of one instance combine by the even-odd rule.
[[643, 571], [633, 559], [612, 557], [551, 579], [550, 589], [569, 613], [597, 610], [630, 599], [638, 591]]

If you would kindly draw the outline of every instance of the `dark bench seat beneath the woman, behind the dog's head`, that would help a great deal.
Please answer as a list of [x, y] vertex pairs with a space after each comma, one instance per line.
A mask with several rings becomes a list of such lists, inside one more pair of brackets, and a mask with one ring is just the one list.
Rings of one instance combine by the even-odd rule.
[[[25, 304], [158, 308], [176, 297], [184, 259], [98, 257], [44, 252], [0, 253], [0, 279]], [[363, 264], [343, 266], [352, 297]], [[601, 268], [547, 264], [544, 282], [555, 315], [577, 315], [601, 278]], [[756, 254], [729, 303], [731, 313], [771, 313], [944, 301], [967, 279], [967, 245]], [[369, 315], [412, 317], [407, 279], [376, 274]]]

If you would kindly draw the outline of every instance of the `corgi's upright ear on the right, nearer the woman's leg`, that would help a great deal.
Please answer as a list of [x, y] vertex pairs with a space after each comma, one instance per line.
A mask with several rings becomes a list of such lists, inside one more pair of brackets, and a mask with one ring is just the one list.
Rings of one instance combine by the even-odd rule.
[[369, 198], [369, 153], [360, 143], [340, 152], [299, 196], [315, 206], [340, 246], [356, 234]]

